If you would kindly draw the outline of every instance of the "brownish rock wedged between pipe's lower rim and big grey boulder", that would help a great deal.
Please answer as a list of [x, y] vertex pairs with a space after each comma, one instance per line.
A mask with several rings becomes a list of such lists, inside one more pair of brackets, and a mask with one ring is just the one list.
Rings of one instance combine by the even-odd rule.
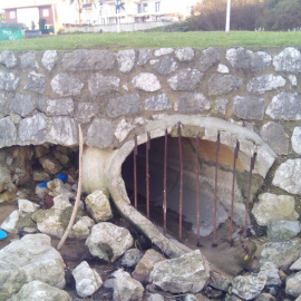
[[143, 283], [149, 282], [151, 272], [157, 262], [165, 261], [166, 259], [153, 249], [146, 251], [142, 260], [136, 265], [132, 276]]

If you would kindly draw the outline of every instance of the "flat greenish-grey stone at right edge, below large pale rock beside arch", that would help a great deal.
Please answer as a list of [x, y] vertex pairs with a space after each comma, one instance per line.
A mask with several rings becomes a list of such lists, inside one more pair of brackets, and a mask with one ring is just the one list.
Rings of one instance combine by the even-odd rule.
[[270, 242], [288, 241], [301, 232], [299, 221], [274, 221], [268, 226], [268, 240]]

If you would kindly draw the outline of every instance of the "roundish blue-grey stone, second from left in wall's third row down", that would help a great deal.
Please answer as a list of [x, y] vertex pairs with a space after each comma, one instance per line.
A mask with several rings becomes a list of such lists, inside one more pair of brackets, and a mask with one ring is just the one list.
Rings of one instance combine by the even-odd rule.
[[26, 117], [36, 109], [36, 99], [29, 94], [16, 93], [10, 101], [10, 109], [16, 114]]

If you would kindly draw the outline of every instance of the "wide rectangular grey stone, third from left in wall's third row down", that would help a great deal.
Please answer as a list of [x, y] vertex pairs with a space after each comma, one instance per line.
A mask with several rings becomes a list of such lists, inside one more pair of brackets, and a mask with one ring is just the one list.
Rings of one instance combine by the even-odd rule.
[[38, 107], [47, 116], [72, 116], [75, 110], [72, 98], [49, 99], [40, 97]]

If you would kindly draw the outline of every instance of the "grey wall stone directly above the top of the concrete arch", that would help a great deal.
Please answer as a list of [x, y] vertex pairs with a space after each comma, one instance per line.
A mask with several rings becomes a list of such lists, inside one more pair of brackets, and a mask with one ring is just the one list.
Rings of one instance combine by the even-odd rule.
[[202, 93], [184, 93], [177, 103], [181, 113], [204, 113], [210, 108], [211, 103]]

